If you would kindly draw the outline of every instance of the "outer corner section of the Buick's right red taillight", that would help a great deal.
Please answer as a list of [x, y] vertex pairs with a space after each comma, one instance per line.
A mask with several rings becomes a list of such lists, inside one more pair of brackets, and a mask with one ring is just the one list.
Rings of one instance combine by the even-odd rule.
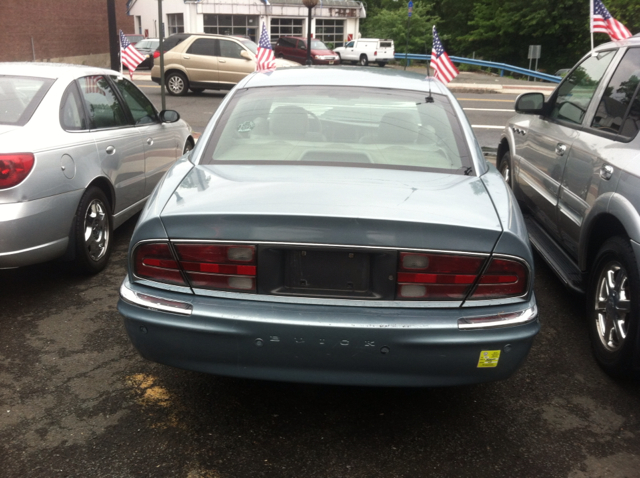
[[469, 299], [497, 299], [527, 293], [529, 270], [520, 261], [492, 259]]

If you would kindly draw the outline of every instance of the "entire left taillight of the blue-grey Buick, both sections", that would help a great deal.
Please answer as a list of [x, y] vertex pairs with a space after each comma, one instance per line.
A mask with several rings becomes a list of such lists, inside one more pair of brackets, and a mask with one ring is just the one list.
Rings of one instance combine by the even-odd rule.
[[134, 274], [142, 279], [196, 289], [255, 292], [255, 246], [174, 244], [173, 247], [177, 258], [167, 243], [138, 246], [134, 253]]

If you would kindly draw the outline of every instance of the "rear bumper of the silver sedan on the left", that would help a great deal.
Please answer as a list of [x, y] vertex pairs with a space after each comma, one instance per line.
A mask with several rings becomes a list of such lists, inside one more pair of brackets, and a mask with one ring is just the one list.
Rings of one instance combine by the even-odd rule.
[[0, 269], [62, 256], [83, 191], [0, 204]]

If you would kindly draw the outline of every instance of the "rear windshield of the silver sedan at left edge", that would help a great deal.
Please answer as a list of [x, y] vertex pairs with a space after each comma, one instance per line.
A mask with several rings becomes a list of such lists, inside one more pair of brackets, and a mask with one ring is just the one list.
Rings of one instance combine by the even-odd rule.
[[53, 81], [49, 78], [0, 75], [0, 124], [25, 125]]

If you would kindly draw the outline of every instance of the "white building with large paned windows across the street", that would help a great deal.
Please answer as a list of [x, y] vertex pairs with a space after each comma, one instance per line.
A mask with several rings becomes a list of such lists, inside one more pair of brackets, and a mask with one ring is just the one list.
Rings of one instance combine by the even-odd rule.
[[[129, 0], [136, 33], [158, 38], [158, 0]], [[262, 24], [271, 41], [281, 36], [307, 36], [309, 10], [302, 0], [162, 0], [164, 36], [174, 33], [246, 35], [257, 43]], [[322, 0], [313, 9], [311, 35], [329, 48], [358, 38], [360, 1]]]

